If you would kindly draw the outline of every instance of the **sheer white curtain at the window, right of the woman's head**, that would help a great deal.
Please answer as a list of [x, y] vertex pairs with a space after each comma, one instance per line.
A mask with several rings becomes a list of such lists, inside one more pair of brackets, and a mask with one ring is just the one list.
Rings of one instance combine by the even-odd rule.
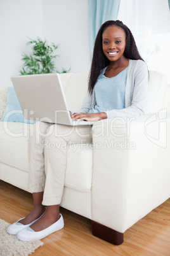
[[170, 12], [167, 0], [121, 0], [117, 19], [133, 33], [148, 69], [166, 74], [170, 82]]

